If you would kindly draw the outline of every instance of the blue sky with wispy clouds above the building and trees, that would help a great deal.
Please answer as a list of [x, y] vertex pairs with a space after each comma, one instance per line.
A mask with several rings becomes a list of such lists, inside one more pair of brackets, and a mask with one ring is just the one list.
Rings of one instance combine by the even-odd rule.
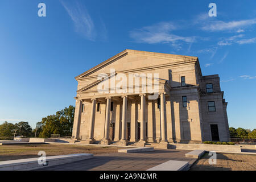
[[[46, 4], [46, 17], [38, 4]], [[209, 3], [217, 17], [209, 17]], [[256, 1], [0, 1], [0, 124], [75, 105], [75, 76], [124, 49], [198, 56], [230, 127], [256, 128]]]

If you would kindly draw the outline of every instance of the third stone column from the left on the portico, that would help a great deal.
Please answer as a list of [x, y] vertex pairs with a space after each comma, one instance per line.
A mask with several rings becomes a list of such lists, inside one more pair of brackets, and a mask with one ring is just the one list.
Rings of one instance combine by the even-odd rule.
[[111, 104], [111, 97], [106, 98], [106, 118], [105, 118], [105, 133], [104, 139], [101, 141], [102, 144], [109, 144], [109, 122], [110, 122], [110, 104]]

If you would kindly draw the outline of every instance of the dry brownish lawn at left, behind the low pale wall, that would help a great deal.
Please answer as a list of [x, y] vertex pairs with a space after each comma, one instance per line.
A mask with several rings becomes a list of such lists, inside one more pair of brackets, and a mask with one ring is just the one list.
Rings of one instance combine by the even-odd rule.
[[26, 144], [0, 146], [0, 161], [38, 158], [39, 151], [45, 151], [46, 156], [66, 154], [106, 154], [118, 152], [121, 147], [81, 146], [75, 144]]

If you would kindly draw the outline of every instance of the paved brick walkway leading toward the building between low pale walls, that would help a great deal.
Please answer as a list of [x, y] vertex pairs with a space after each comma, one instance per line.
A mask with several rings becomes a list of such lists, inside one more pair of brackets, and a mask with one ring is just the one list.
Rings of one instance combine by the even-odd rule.
[[111, 153], [94, 155], [92, 159], [81, 160], [38, 170], [49, 171], [145, 171], [168, 160], [182, 160], [193, 164], [196, 159], [185, 158], [188, 150], [155, 150], [139, 153]]

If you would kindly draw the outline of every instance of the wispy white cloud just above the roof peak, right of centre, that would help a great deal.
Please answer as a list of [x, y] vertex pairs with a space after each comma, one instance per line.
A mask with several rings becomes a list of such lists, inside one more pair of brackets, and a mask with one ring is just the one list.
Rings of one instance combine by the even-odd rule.
[[142, 27], [130, 31], [130, 37], [138, 43], [171, 43], [172, 46], [180, 48], [180, 44], [196, 42], [195, 36], [179, 36], [172, 34], [179, 26], [172, 22], [161, 22], [151, 26]]

